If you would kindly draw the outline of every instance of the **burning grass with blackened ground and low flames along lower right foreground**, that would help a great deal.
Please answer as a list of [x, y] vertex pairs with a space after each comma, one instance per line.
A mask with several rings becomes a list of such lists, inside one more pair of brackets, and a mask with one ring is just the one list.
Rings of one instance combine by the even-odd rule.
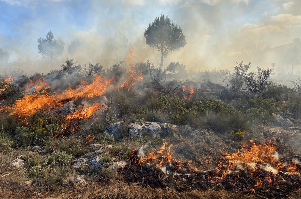
[[126, 175], [136, 174], [127, 179], [144, 186], [168, 187], [179, 192], [185, 189], [226, 189], [269, 198], [288, 197], [300, 187], [299, 162], [280, 159], [278, 147], [273, 144], [252, 141], [251, 145], [243, 146], [236, 153], [223, 154], [216, 162], [218, 166], [206, 171], [192, 160], [174, 159], [172, 146], [167, 147], [167, 143], [163, 143], [160, 150], [153, 150], [146, 156], [141, 155], [143, 147], [132, 150], [129, 156], [132, 166], [127, 168]]

